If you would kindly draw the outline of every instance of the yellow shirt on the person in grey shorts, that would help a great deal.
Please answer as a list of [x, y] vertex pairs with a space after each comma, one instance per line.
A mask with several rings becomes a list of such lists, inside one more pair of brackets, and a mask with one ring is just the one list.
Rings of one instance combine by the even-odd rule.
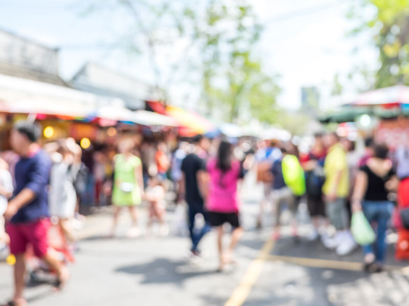
[[[339, 171], [342, 171], [342, 174], [338, 186], [335, 186], [336, 176]], [[324, 172], [326, 179], [323, 186], [323, 193], [325, 195], [331, 195], [335, 190], [337, 197], [347, 197], [349, 193], [347, 152], [340, 143], [334, 144], [328, 150], [324, 163]]]

